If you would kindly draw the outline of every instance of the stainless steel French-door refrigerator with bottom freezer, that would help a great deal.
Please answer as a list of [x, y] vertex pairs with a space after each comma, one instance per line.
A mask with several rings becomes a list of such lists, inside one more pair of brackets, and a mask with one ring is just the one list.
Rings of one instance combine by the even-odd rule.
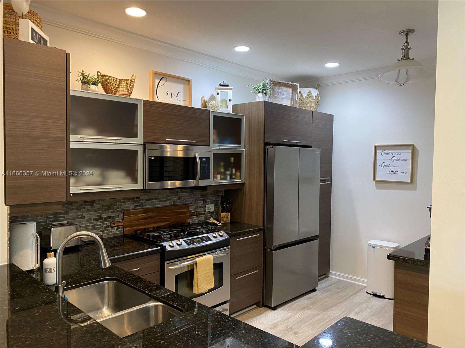
[[320, 150], [266, 147], [265, 305], [318, 284]]

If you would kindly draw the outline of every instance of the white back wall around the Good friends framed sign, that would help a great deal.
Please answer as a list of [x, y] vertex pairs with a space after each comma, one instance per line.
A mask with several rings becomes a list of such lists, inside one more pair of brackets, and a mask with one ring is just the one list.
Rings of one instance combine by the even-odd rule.
[[[334, 115], [331, 271], [366, 278], [370, 239], [404, 246], [430, 233], [435, 81], [371, 78], [319, 91], [318, 110]], [[373, 181], [375, 144], [415, 145], [412, 184]]]

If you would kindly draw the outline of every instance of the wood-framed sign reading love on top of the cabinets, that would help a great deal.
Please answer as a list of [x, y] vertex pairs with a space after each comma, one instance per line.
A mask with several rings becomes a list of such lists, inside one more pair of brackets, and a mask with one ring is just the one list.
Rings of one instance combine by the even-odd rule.
[[149, 99], [155, 102], [192, 106], [191, 79], [160, 71], [149, 71]]

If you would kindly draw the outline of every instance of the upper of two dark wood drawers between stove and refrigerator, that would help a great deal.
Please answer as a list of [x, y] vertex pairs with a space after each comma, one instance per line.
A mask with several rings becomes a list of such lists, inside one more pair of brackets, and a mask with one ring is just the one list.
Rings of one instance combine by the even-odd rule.
[[263, 231], [231, 238], [231, 274], [263, 263]]

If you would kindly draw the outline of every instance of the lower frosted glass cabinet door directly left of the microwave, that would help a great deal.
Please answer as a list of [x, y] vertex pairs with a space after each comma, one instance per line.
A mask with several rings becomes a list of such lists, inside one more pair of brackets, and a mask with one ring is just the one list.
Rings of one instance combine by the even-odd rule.
[[143, 188], [143, 145], [71, 143], [71, 193]]

